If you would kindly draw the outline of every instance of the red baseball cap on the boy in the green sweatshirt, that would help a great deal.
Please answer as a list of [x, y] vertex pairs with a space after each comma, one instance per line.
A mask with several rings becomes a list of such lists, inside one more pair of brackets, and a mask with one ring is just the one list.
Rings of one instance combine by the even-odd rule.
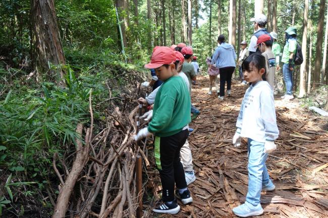
[[155, 69], [163, 64], [174, 63], [176, 59], [176, 53], [170, 47], [158, 46], [151, 55], [150, 63], [146, 64], [145, 68]]

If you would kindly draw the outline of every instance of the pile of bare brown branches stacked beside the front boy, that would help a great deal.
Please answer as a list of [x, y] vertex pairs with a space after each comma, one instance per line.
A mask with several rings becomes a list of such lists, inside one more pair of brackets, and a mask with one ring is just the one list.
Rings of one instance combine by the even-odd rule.
[[123, 114], [118, 107], [112, 112], [106, 110], [106, 125], [97, 134], [92, 134], [96, 128], [91, 93], [89, 109], [90, 126], [79, 123], [76, 128], [75, 152], [63, 159], [58, 154], [53, 156], [60, 193], [52, 218], [141, 218], [142, 159], [145, 166], [149, 161], [133, 136], [139, 130], [142, 105], [130, 114]]

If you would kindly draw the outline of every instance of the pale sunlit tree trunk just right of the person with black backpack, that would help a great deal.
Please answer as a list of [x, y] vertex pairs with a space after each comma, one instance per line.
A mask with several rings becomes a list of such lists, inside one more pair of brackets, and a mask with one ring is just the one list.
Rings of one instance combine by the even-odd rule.
[[[303, 58], [306, 60], [306, 46], [307, 46], [307, 18], [309, 11], [309, 0], [304, 0], [304, 15], [303, 15], [303, 37], [302, 37], [302, 53]], [[300, 87], [299, 87], [299, 98], [305, 95], [305, 67], [306, 61], [303, 61], [300, 67]]]

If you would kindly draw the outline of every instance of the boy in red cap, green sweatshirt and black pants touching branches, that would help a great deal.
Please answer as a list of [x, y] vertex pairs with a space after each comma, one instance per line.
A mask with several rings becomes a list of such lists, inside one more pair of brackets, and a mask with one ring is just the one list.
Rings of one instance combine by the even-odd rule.
[[154, 68], [163, 84], [157, 91], [152, 119], [148, 127], [140, 129], [135, 140], [154, 134], [154, 158], [162, 184], [163, 203], [152, 209], [158, 213], [176, 214], [180, 206], [176, 196], [183, 204], [192, 202], [187, 188], [184, 169], [180, 162], [180, 150], [188, 138], [188, 124], [191, 121], [190, 97], [183, 79], [176, 75], [177, 56], [170, 47], [157, 48], [150, 63], [145, 68]]

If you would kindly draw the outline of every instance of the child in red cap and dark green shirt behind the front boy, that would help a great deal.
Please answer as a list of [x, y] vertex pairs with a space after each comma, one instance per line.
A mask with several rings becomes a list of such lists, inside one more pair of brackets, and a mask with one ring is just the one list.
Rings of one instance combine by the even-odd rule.
[[[181, 49], [181, 54], [185, 57], [185, 61], [183, 62], [183, 72], [186, 74], [188, 80], [189, 80], [189, 94], [191, 97], [191, 80], [196, 81], [197, 74], [195, 72], [194, 66], [190, 63], [193, 55], [193, 51], [191, 47], [184, 47]], [[197, 116], [200, 114], [200, 111], [195, 108], [195, 106], [191, 105], [191, 113], [192, 117], [191, 120], [194, 120], [197, 118]]]

